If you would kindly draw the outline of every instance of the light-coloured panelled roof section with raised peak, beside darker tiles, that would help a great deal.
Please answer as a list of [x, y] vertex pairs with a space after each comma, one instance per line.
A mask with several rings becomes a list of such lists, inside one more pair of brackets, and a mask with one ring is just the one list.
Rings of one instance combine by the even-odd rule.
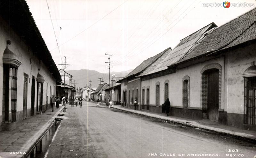
[[191, 51], [191, 49], [195, 47], [196, 43], [203, 38], [204, 34], [215, 27], [217, 26], [214, 23], [211, 23], [183, 38], [180, 40], [180, 43], [168, 54], [168, 56], [155, 67], [154, 70], [144, 73], [143, 75], [148, 75], [167, 69], [169, 65], [179, 61], [184, 55]]

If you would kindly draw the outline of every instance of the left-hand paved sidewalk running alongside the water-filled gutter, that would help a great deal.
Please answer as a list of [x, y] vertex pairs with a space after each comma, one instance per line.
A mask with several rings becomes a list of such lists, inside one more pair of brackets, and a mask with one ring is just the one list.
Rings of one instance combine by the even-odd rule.
[[22, 122], [17, 123], [17, 128], [12, 131], [0, 131], [0, 157], [23, 157], [23, 154], [10, 154], [22, 152], [28, 154], [36, 142], [44, 135], [54, 122], [64, 106], [59, 109], [48, 109], [42, 115], [37, 114]]

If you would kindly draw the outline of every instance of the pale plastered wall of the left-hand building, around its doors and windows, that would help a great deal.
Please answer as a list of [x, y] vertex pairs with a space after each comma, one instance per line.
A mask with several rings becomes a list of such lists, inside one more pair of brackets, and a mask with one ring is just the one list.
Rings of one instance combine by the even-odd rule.
[[[7, 24], [3, 19], [0, 18], [0, 75], [3, 76], [3, 54], [6, 48], [6, 41], [10, 40], [11, 45], [8, 45], [8, 48], [15, 53], [21, 62], [20, 67], [18, 68], [18, 83], [17, 83], [17, 112], [23, 110], [23, 81], [24, 73], [28, 74], [28, 102], [27, 108], [31, 108], [31, 84], [32, 84], [32, 75], [37, 76], [38, 68], [40, 69], [39, 73], [44, 77], [44, 87], [43, 87], [43, 105], [46, 104], [46, 83], [48, 83], [48, 95], [50, 99], [50, 86], [52, 87], [52, 92], [55, 86], [55, 79], [51, 75], [50, 71], [46, 68], [42, 61], [40, 61], [31, 51], [31, 49], [25, 45], [25, 43], [20, 39], [20, 37], [15, 34], [12, 30], [7, 29]], [[31, 58], [31, 63], [30, 63]], [[30, 83], [29, 83], [30, 80]], [[3, 77], [0, 77], [0, 84], [3, 87]], [[36, 87], [37, 88], [37, 87]], [[36, 92], [36, 91], [35, 91]], [[53, 94], [53, 93], [52, 93]], [[0, 100], [3, 100], [3, 88], [0, 88]], [[49, 101], [50, 102], [50, 101]], [[36, 110], [36, 95], [35, 95], [35, 110]], [[2, 111], [2, 104], [0, 104], [0, 111]], [[0, 113], [2, 115], [2, 112]], [[27, 114], [28, 116], [30, 113]], [[2, 116], [1, 118], [2, 119]]]

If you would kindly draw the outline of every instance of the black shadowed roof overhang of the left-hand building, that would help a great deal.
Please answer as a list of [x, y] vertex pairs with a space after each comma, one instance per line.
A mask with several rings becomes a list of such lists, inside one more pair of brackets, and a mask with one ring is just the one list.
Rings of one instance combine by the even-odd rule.
[[31, 51], [48, 67], [52, 76], [57, 81], [61, 81], [60, 72], [36, 26], [27, 2], [25, 0], [1, 0], [0, 16], [9, 23], [9, 27], [21, 37], [20, 39], [24, 39], [25, 43], [32, 49]]

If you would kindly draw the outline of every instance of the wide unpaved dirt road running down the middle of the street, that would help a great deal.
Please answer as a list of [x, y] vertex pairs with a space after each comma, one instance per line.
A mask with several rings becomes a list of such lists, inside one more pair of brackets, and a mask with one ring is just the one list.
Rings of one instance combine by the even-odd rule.
[[[244, 155], [250, 158], [256, 155], [255, 144], [95, 105], [83, 102], [82, 108], [68, 107], [65, 115], [68, 119], [61, 121], [47, 157], [222, 158]], [[228, 149], [231, 152], [227, 152]]]

